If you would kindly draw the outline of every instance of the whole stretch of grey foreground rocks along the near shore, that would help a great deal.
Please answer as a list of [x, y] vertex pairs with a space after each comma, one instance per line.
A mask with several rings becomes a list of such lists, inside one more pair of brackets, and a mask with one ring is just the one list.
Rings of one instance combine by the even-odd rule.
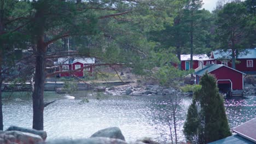
[[61, 140], [46, 140], [46, 131], [26, 129], [16, 126], [11, 126], [5, 131], [0, 131], [1, 144], [144, 144], [158, 142], [147, 140], [137, 140], [135, 142], [126, 142], [125, 137], [118, 127], [111, 127], [97, 131], [93, 135], [85, 139], [61, 139]]

